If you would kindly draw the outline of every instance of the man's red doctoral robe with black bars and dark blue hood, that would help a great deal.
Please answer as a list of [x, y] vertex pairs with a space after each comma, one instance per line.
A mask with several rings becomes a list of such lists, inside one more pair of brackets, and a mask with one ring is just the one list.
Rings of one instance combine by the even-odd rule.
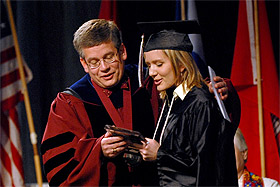
[[[151, 104], [151, 96], [156, 96], [151, 92], [152, 82], [147, 83], [146, 88], [137, 89], [138, 84], [135, 83], [137, 77], [131, 75], [137, 73], [128, 74], [131, 93], [133, 93], [131, 96], [133, 130], [140, 131], [145, 137], [152, 137], [155, 124], [153, 116], [157, 115], [158, 108], [157, 102], [154, 102], [155, 105]], [[89, 75], [70, 88], [79, 96], [58, 93], [51, 105], [42, 140], [41, 153], [49, 184], [54, 186], [155, 185], [154, 163], [142, 161], [138, 166], [128, 167], [122, 155], [114, 159], [103, 157], [100, 144], [106, 132], [104, 126], [113, 124], [113, 121], [100, 101]], [[121, 87], [112, 90], [110, 99], [117, 109], [123, 107]], [[156, 109], [155, 113], [153, 107]]]

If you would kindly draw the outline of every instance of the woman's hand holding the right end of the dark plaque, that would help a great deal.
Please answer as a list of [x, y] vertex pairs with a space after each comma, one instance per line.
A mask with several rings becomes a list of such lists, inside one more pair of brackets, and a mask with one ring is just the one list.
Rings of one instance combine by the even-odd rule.
[[147, 140], [145, 146], [142, 149], [139, 149], [142, 158], [144, 161], [153, 161], [157, 158], [157, 152], [160, 147], [159, 143], [156, 140], [145, 138]]

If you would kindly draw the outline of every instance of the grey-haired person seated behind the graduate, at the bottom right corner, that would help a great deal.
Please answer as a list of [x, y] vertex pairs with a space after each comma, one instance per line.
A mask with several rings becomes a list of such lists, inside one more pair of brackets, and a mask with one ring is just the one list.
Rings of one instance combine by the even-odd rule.
[[273, 179], [260, 177], [249, 172], [245, 166], [248, 158], [248, 147], [241, 130], [238, 128], [234, 136], [234, 148], [236, 157], [236, 168], [238, 175], [238, 186], [273, 186], [280, 187]]

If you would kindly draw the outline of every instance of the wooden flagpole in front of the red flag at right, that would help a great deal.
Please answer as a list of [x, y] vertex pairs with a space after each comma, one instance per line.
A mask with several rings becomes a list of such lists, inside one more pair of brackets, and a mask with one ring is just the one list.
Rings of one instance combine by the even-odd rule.
[[255, 40], [256, 40], [256, 63], [257, 63], [257, 90], [258, 90], [258, 113], [259, 113], [259, 136], [260, 136], [260, 154], [261, 154], [261, 175], [265, 177], [265, 151], [264, 151], [264, 132], [263, 132], [263, 105], [262, 105], [262, 79], [260, 62], [260, 44], [259, 44], [259, 20], [258, 20], [258, 2], [254, 0], [255, 17]]

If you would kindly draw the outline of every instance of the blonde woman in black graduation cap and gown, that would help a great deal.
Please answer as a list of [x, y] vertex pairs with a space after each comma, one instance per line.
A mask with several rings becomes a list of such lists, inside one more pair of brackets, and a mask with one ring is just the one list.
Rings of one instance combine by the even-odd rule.
[[141, 27], [153, 29], [144, 58], [164, 103], [143, 159], [157, 163], [161, 186], [237, 186], [236, 126], [224, 119], [191, 55], [193, 22]]

